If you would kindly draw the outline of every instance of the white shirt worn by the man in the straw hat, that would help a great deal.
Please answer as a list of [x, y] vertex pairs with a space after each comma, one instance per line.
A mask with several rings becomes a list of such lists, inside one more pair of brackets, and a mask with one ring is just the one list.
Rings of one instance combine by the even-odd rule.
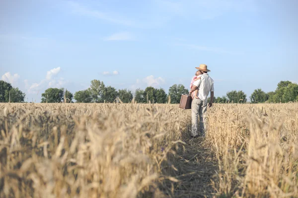
[[199, 88], [198, 97], [203, 101], [207, 100], [209, 92], [214, 92], [214, 80], [208, 74], [203, 74], [193, 85]]

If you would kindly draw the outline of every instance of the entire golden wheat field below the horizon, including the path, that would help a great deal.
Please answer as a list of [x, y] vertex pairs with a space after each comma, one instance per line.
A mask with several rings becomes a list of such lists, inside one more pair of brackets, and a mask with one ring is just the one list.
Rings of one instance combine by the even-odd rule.
[[298, 103], [0, 103], [1, 198], [295, 198]]

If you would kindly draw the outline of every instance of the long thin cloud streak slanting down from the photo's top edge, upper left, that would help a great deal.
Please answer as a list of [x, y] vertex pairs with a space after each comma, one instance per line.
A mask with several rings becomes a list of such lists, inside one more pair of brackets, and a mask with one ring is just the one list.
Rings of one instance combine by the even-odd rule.
[[117, 23], [125, 26], [133, 26], [133, 22], [125, 19], [123, 16], [117, 16], [115, 13], [105, 13], [98, 10], [87, 8], [86, 6], [79, 4], [74, 1], [67, 1], [69, 7], [72, 9], [72, 11], [76, 14], [86, 16], [86, 17], [93, 17], [97, 19], [101, 19], [104, 21]]

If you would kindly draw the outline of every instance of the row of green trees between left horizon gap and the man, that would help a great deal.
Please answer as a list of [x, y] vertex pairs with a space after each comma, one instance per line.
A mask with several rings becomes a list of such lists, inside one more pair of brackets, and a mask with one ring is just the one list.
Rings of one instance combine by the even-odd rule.
[[[59, 93], [59, 91], [61, 95], [53, 95], [53, 92]], [[42, 94], [42, 102], [62, 101], [63, 92], [64, 89], [55, 89], [54, 91], [53, 88], [49, 88]], [[154, 103], [167, 103], [169, 98], [171, 103], [179, 103], [182, 94], [188, 94], [188, 90], [183, 85], [173, 85], [169, 88], [168, 94], [166, 94], [162, 88], [156, 89], [153, 87], [147, 87], [145, 90], [137, 89], [133, 94], [130, 90], [116, 90], [114, 87], [105, 86], [102, 81], [92, 80], [88, 89], [77, 91], [74, 93], [74, 96], [71, 93], [68, 93], [67, 97], [69, 101], [75, 99], [76, 102], [82, 103], [115, 102], [119, 100], [123, 103], [129, 103], [133, 99], [138, 103], [148, 103], [149, 101]], [[45, 97], [46, 95], [47, 98]], [[53, 96], [54, 98], [50, 98], [49, 96]], [[60, 96], [60, 98], [58, 99], [56, 96]]]

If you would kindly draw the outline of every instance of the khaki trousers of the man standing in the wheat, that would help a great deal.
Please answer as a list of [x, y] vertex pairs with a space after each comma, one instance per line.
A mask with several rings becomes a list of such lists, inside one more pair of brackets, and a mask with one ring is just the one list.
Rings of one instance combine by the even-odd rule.
[[200, 117], [200, 134], [205, 135], [206, 132], [206, 116], [207, 116], [207, 101], [194, 98], [191, 103], [191, 119], [192, 119], [192, 130], [191, 136], [198, 135], [198, 115]]

